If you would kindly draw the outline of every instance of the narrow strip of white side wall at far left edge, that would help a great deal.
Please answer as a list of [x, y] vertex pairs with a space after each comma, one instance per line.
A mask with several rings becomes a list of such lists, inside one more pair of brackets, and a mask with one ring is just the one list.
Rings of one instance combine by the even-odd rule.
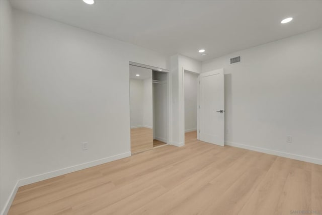
[[12, 9], [7, 0], [0, 1], [0, 214], [10, 203], [19, 178], [18, 148], [15, 141], [13, 95], [13, 26]]

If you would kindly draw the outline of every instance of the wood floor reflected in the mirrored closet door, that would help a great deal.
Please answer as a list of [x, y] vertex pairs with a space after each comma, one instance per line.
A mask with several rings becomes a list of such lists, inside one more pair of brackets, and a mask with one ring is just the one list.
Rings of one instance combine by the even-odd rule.
[[131, 129], [131, 152], [137, 153], [153, 148], [153, 129], [140, 127]]

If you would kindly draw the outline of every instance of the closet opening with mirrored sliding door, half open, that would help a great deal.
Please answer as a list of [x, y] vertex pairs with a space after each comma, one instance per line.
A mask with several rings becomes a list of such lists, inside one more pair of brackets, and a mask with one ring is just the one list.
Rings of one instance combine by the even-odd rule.
[[130, 62], [131, 153], [168, 144], [169, 73], [166, 69]]

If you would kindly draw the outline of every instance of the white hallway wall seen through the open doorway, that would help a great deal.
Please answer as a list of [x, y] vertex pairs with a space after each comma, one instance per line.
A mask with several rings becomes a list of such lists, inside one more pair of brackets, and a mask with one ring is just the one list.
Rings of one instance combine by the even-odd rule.
[[198, 75], [185, 71], [185, 132], [197, 130]]

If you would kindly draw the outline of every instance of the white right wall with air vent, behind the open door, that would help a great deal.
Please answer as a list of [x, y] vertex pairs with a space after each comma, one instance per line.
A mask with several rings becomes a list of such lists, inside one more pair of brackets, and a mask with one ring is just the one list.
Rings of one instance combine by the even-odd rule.
[[204, 62], [225, 69], [227, 143], [322, 164], [321, 58], [317, 29]]

